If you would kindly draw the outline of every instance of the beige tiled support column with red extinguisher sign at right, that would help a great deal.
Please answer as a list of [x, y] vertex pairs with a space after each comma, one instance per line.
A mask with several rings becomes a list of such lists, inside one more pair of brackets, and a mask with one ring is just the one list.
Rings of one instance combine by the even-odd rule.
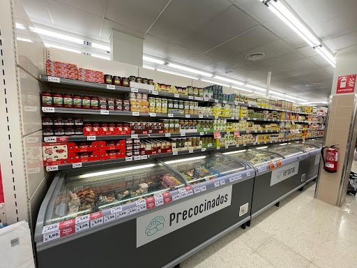
[[337, 172], [326, 172], [321, 161], [315, 193], [319, 200], [338, 207], [346, 198], [357, 137], [356, 77], [349, 76], [356, 74], [357, 46], [338, 51], [324, 137], [324, 146], [338, 144]]

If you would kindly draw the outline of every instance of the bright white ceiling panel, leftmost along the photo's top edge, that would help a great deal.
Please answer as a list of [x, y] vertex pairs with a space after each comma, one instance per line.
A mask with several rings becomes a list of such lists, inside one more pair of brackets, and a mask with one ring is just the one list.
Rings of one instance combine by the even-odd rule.
[[46, 0], [21, 0], [22, 6], [26, 10], [31, 22], [45, 24], [53, 27], [50, 13], [48, 12], [48, 3]]

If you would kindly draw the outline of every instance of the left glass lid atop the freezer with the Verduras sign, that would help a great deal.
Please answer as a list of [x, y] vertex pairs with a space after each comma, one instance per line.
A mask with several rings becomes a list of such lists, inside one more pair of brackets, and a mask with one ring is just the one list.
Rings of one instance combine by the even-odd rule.
[[282, 157], [276, 154], [271, 154], [266, 151], [259, 151], [257, 149], [230, 151], [224, 154], [229, 154], [229, 156], [249, 161], [250, 163], [252, 163], [252, 165], [255, 165], [256, 167], [259, 165], [267, 164], [271, 161], [279, 161], [280, 159], [282, 159]]

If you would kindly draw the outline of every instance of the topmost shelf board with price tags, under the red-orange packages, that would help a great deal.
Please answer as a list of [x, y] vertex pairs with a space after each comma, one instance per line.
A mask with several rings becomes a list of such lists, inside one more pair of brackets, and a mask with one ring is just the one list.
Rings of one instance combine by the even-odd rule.
[[[213, 98], [202, 98], [202, 97], [194, 97], [194, 96], [187, 96], [187, 95], [182, 95], [182, 94], [173, 94], [173, 93], [167, 93], [167, 92], [162, 92], [162, 91], [149, 91], [147, 89], [137, 89], [134, 87], [121, 87], [121, 86], [116, 86], [116, 85], [108, 85], [108, 84], [100, 84], [100, 83], [94, 83], [94, 82], [86, 82], [86, 81], [81, 81], [81, 80], [72, 80], [72, 79], [66, 79], [66, 78], [59, 78], [59, 77], [51, 77], [47, 75], [40, 75], [40, 80], [44, 82], [50, 82], [52, 87], [59, 87], [59, 88], [75, 88], [75, 89], [83, 89], [83, 90], [96, 90], [103, 92], [113, 92], [117, 91], [118, 93], [127, 93], [127, 92], [138, 92], [138, 93], [143, 93], [143, 94], [149, 94], [153, 96], [162, 96], [162, 97], [167, 97], [167, 98], [178, 98], [178, 99], [183, 99], [183, 100], [191, 100], [191, 101], [204, 101], [204, 102], [209, 102], [209, 103], [228, 103], [232, 105], [241, 105], [241, 106], [246, 106], [246, 107], [252, 107], [252, 108], [257, 108], [257, 109], [264, 109], [264, 110], [275, 110], [275, 111], [280, 111], [280, 112], [294, 112], [297, 114], [306, 114], [306, 115], [312, 115], [312, 116], [321, 116], [318, 114], [309, 114], [306, 112], [295, 112], [291, 110], [283, 110], [283, 109], [278, 109], [278, 108], [272, 108], [272, 107], [264, 107], [264, 106], [259, 106], [255, 104], [247, 104], [247, 103], [241, 103], [238, 101], [220, 101], [220, 100], [215, 100]], [[115, 112], [115, 111], [114, 111]], [[193, 117], [192, 117], [193, 118]]]

